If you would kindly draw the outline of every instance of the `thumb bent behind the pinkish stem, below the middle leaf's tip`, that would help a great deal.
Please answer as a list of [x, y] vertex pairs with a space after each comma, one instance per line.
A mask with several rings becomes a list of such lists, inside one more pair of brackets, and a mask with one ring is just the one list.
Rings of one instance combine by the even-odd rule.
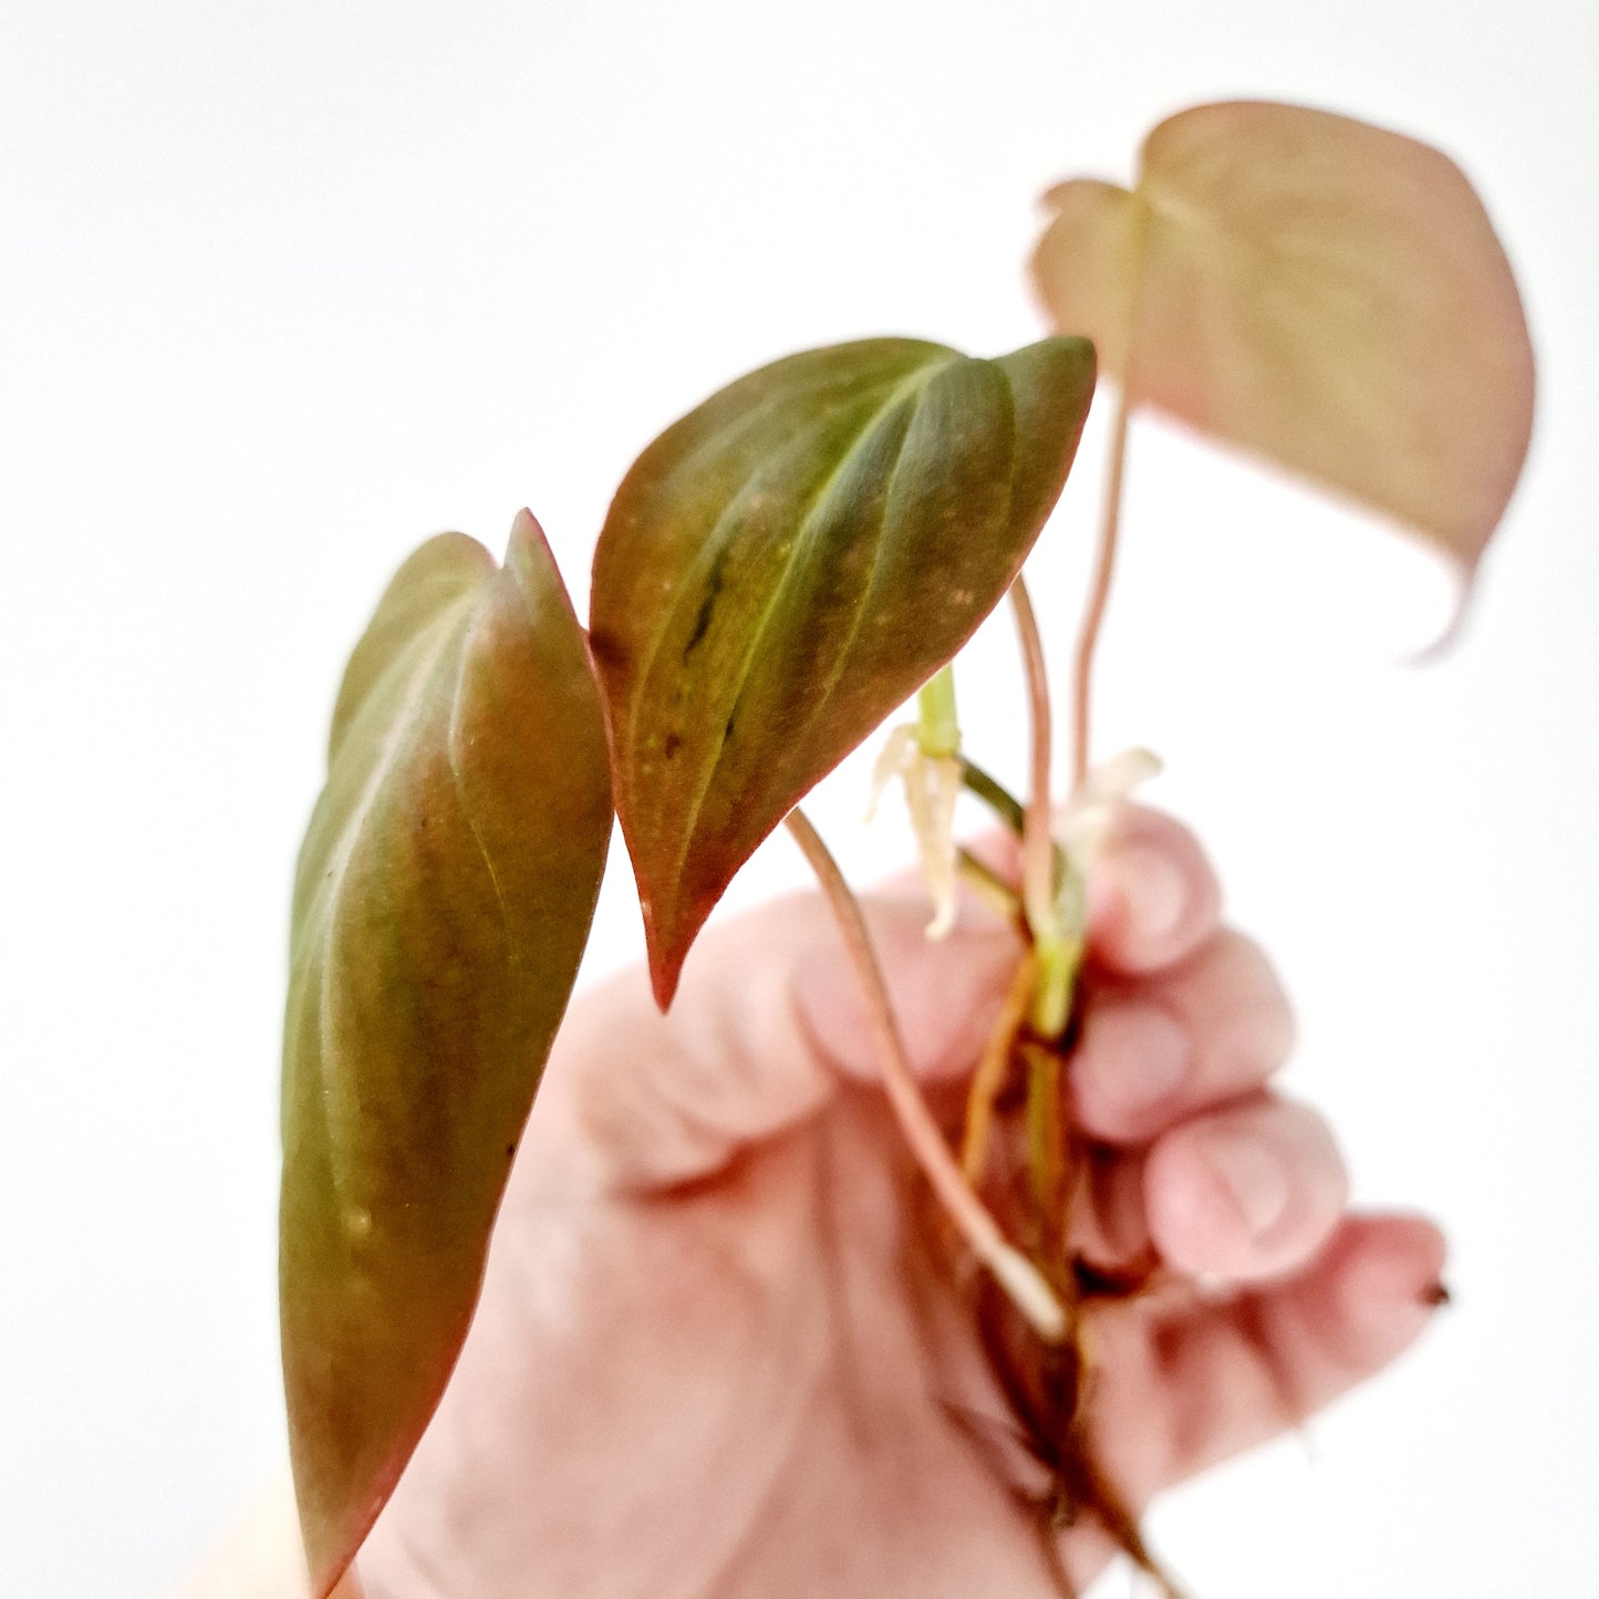
[[[929, 942], [919, 894], [862, 908], [911, 1068], [969, 1071], [1020, 956], [1015, 934], [971, 913]], [[707, 931], [667, 1015], [641, 972], [574, 1001], [540, 1115], [552, 1134], [571, 1129], [600, 1183], [667, 1186], [814, 1115], [839, 1081], [878, 1076], [860, 975], [822, 900], [800, 895]]]

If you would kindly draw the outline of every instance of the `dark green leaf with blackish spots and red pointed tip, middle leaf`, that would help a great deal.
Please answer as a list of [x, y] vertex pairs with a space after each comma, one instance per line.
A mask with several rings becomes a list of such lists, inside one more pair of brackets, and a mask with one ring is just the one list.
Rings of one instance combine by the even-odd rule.
[[761, 839], [1004, 595], [1092, 389], [1081, 339], [870, 339], [752, 373], [628, 472], [593, 651], [662, 1006]]

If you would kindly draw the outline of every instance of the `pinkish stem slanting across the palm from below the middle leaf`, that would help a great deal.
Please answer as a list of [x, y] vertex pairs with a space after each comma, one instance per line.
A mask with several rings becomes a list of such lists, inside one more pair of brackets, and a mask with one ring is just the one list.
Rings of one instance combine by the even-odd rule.
[[833, 860], [827, 844], [822, 843], [820, 835], [803, 811], [788, 812], [788, 831], [800, 844], [806, 860], [811, 862], [811, 870], [827, 895], [833, 918], [838, 921], [839, 932], [844, 935], [844, 943], [855, 964], [855, 972], [860, 975], [867, 995], [867, 1015], [876, 1036], [878, 1057], [883, 1065], [883, 1087], [911, 1154], [972, 1254], [993, 1273], [995, 1281], [1006, 1290], [1039, 1338], [1046, 1343], [1059, 1342], [1067, 1332], [1067, 1314], [1060, 1302], [1027, 1255], [1006, 1241], [982, 1199], [961, 1177], [955, 1156], [943, 1142], [943, 1134], [932, 1119], [927, 1102], [921, 1097], [921, 1089], [916, 1086], [910, 1060], [905, 1055], [905, 1044], [894, 1023], [887, 983], [871, 950], [871, 937], [867, 932], [860, 903], [851, 894], [844, 875], [838, 870], [838, 862]]

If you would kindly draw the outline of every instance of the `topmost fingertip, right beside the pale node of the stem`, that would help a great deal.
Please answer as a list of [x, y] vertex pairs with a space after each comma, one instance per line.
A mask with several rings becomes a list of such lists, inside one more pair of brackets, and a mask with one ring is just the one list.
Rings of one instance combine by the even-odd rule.
[[1111, 972], [1142, 975], [1185, 959], [1215, 932], [1222, 887], [1198, 839], [1143, 806], [1116, 820], [1089, 884], [1089, 948]]

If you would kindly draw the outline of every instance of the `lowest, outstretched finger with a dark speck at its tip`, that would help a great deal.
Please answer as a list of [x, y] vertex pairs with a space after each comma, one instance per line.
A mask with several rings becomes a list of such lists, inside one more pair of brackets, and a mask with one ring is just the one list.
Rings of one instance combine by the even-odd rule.
[[1135, 1503], [1300, 1426], [1396, 1359], [1442, 1302], [1444, 1241], [1415, 1217], [1346, 1218], [1300, 1276], [1105, 1327], [1105, 1465]]

